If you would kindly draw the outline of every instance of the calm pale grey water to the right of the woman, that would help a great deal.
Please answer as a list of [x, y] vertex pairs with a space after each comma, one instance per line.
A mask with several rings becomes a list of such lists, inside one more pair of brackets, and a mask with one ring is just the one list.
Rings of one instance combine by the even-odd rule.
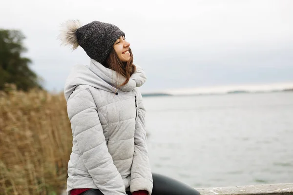
[[144, 104], [152, 172], [195, 188], [293, 182], [293, 92]]

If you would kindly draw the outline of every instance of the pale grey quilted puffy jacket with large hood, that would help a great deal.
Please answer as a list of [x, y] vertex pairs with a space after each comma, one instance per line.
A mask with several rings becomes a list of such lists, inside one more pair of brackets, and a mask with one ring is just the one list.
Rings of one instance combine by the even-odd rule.
[[[117, 83], [118, 79], [118, 83]], [[91, 59], [77, 65], [66, 80], [64, 94], [73, 147], [68, 162], [67, 193], [75, 188], [99, 189], [104, 195], [152, 192], [146, 147], [145, 108], [137, 87], [146, 76], [136, 66], [125, 78]]]

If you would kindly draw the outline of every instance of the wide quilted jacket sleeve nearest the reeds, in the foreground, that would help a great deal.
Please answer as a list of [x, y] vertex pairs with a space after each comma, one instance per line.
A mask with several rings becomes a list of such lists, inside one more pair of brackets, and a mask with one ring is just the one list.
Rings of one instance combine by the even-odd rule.
[[73, 135], [88, 173], [104, 195], [126, 195], [121, 175], [108, 153], [95, 101], [87, 89], [77, 89], [67, 101]]

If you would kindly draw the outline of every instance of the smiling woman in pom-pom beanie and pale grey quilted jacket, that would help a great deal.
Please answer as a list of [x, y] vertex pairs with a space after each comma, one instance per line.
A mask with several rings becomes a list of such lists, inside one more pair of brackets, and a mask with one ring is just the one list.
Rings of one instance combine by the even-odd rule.
[[73, 68], [64, 88], [73, 135], [68, 195], [199, 195], [151, 173], [138, 91], [146, 76], [132, 63], [124, 32], [100, 21], [81, 26], [73, 20], [63, 27], [62, 43], [81, 46], [91, 59]]

